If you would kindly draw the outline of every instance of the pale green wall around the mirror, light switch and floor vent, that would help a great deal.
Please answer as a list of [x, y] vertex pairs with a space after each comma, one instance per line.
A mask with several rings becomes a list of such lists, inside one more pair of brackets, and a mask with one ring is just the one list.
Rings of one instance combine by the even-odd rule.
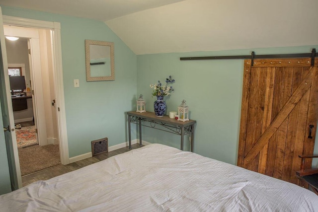
[[[61, 23], [63, 80], [70, 157], [91, 151], [90, 141], [109, 146], [127, 141], [125, 112], [135, 105], [137, 57], [104, 22], [14, 7], [3, 15]], [[115, 80], [86, 82], [84, 40], [114, 42]], [[74, 87], [79, 79], [79, 87]]]

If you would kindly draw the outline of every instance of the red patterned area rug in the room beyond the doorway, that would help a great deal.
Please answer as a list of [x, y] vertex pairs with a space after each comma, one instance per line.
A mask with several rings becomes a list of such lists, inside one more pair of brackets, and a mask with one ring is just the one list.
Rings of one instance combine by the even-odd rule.
[[18, 148], [36, 144], [35, 126], [22, 127], [15, 130]]

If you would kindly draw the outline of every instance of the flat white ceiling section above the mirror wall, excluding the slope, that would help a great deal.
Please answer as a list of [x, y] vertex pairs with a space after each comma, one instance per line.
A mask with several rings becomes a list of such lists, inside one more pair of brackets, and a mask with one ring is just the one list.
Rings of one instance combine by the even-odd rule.
[[106, 21], [177, 1], [181, 0], [0, 0], [0, 4]]

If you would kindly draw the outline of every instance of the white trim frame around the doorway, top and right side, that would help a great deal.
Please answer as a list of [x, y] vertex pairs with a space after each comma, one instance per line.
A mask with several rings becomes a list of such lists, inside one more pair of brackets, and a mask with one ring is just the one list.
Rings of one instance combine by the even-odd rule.
[[66, 165], [70, 163], [69, 146], [66, 129], [66, 113], [63, 86], [63, 68], [62, 68], [62, 48], [61, 48], [61, 24], [59, 22], [33, 20], [27, 18], [2, 15], [3, 24], [12, 26], [22, 26], [30, 28], [50, 29], [52, 30], [52, 56], [53, 56], [53, 76], [54, 90], [56, 95], [57, 123], [59, 132], [59, 144], [61, 163]]

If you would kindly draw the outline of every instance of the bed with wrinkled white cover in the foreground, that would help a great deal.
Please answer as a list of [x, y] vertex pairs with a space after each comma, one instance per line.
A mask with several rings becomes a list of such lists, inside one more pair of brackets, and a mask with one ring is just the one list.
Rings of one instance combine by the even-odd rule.
[[318, 211], [300, 186], [150, 144], [0, 196], [1, 211]]

